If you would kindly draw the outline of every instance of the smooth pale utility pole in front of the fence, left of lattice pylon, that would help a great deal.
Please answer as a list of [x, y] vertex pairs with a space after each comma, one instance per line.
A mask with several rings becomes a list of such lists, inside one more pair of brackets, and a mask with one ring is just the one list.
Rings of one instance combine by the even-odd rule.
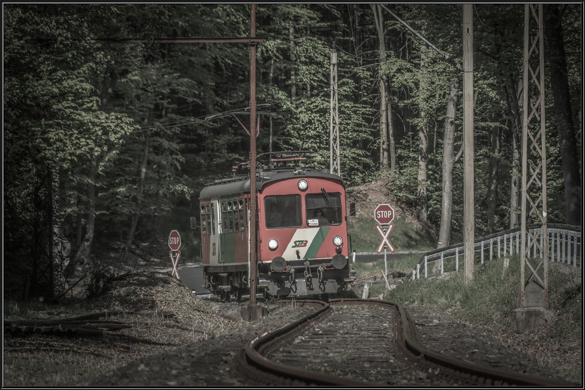
[[473, 279], [473, 5], [463, 5], [463, 230], [465, 285]]

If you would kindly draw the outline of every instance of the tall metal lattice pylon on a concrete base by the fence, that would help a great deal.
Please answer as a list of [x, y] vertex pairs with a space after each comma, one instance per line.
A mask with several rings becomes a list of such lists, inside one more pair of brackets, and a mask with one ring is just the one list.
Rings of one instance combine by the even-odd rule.
[[[526, 4], [524, 6], [520, 306], [542, 306], [548, 309], [545, 82], [542, 22], [542, 4]], [[528, 218], [537, 225], [541, 225], [539, 229], [526, 232]], [[532, 251], [532, 258], [529, 257], [531, 249], [539, 249], [539, 251]]]

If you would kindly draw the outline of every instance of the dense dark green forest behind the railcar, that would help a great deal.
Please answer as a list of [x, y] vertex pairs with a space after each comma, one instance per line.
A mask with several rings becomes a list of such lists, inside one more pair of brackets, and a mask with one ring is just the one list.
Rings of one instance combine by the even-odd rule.
[[[446, 246], [463, 227], [463, 6], [384, 6], [451, 60], [379, 4], [257, 6], [257, 150], [329, 167], [336, 51], [346, 187], [386, 178]], [[473, 11], [479, 237], [519, 226], [524, 5]], [[583, 8], [543, 13], [548, 220], [581, 225]], [[164, 253], [171, 229], [198, 247], [199, 191], [249, 160], [249, 46], [96, 40], [247, 37], [249, 5], [4, 3], [3, 27], [4, 274], [33, 272], [50, 226], [77, 265]]]

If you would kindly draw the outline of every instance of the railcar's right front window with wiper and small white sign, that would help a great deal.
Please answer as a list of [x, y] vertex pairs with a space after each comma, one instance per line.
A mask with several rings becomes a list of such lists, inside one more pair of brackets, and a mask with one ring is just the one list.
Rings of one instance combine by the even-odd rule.
[[340, 225], [342, 222], [341, 194], [331, 194], [322, 191], [321, 194], [307, 194], [307, 225], [308, 226], [331, 226]]

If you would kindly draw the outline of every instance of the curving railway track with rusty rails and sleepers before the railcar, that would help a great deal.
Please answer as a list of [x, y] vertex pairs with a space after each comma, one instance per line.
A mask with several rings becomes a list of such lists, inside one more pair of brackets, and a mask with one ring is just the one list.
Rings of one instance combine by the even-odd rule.
[[[479, 365], [426, 348], [401, 305], [364, 299], [283, 301], [313, 306], [301, 319], [249, 341], [236, 370], [257, 384], [575, 386]], [[448, 343], [448, 341], [446, 341]]]

